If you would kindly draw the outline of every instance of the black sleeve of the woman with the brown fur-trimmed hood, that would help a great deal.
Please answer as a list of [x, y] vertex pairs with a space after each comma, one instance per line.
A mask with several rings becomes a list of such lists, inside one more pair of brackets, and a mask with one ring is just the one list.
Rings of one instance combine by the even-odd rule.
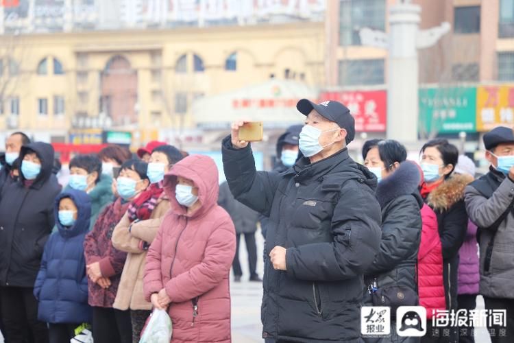
[[[439, 213], [438, 213], [439, 214]], [[456, 202], [450, 209], [442, 214], [439, 221], [439, 235], [443, 246], [443, 258], [449, 259], [458, 253], [467, 231], [467, 213], [464, 200]]]

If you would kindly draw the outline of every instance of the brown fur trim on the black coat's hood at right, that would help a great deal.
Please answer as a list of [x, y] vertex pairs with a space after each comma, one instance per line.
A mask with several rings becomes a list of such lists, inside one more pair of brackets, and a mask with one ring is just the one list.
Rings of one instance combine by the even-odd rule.
[[434, 189], [427, 198], [428, 205], [432, 209], [446, 211], [454, 204], [463, 200], [464, 189], [474, 178], [467, 174], [454, 174]]

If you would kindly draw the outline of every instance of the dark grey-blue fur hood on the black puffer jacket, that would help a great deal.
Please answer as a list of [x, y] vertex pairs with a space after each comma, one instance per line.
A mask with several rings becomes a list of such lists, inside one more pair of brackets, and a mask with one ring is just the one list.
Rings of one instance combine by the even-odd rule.
[[419, 180], [421, 175], [413, 162], [401, 163], [393, 174], [378, 182], [376, 198], [380, 207], [383, 209], [391, 200], [399, 196], [417, 193]]

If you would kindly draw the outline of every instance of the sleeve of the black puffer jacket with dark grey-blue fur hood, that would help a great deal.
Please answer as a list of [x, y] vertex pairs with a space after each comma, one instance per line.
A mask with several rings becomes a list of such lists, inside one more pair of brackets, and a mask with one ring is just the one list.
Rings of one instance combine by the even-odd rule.
[[384, 209], [380, 251], [366, 270], [367, 275], [393, 270], [419, 249], [421, 214], [415, 198], [400, 196]]

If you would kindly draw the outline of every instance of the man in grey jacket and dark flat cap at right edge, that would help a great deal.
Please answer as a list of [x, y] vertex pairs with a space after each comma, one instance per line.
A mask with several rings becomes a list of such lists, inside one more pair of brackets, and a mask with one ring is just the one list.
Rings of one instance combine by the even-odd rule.
[[[480, 230], [480, 294], [488, 310], [514, 313], [514, 134], [500, 126], [484, 135], [489, 172], [465, 189], [469, 220]], [[511, 280], [511, 281], [508, 281]], [[491, 342], [514, 342], [514, 319], [489, 326]], [[501, 333], [503, 331], [503, 334]]]

